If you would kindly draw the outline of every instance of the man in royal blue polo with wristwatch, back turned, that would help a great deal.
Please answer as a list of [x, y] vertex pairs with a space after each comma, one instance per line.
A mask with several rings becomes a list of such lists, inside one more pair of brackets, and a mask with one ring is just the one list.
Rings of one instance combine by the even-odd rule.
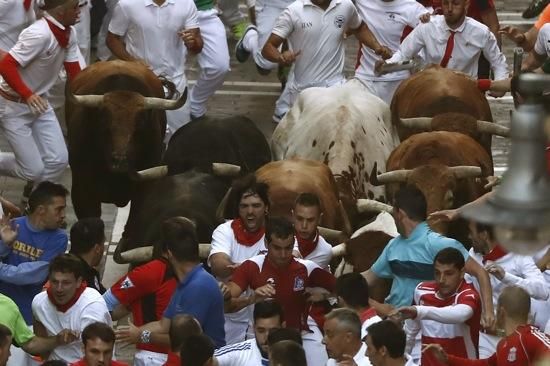
[[130, 325], [117, 331], [120, 341], [168, 344], [171, 319], [188, 314], [199, 321], [204, 334], [216, 348], [225, 345], [223, 295], [218, 282], [202, 267], [199, 259], [199, 241], [194, 224], [185, 217], [166, 220], [161, 228], [160, 245], [168, 253], [168, 260], [178, 278], [178, 287], [161, 320], [139, 328]]

